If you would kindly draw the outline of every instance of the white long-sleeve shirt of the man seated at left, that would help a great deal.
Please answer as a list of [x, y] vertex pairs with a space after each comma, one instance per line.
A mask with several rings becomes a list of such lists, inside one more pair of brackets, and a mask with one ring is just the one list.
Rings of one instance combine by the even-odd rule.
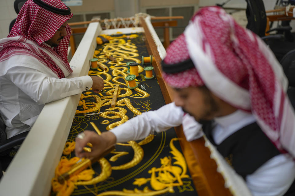
[[[10, 69], [0, 76], [0, 114], [7, 138], [30, 130], [44, 104], [89, 89], [89, 76], [59, 79], [47, 66], [28, 55], [12, 56]], [[22, 66], [24, 64], [24, 66]]]

